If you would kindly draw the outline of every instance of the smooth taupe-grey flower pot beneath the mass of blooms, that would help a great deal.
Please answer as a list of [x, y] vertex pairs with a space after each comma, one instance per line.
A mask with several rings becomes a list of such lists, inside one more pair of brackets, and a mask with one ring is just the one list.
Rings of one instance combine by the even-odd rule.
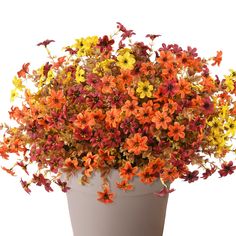
[[97, 200], [102, 191], [100, 173], [95, 173], [89, 185], [80, 185], [78, 176], [69, 180], [72, 188], [67, 200], [74, 236], [162, 236], [168, 196], [158, 197], [161, 182], [152, 185], [134, 178], [135, 189], [124, 192], [116, 187], [118, 171], [110, 174], [110, 189], [115, 193], [113, 203]]

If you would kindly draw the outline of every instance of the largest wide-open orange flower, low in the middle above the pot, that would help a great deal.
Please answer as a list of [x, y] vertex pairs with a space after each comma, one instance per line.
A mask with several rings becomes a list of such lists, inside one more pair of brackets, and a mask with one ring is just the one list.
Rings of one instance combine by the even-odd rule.
[[141, 152], [148, 150], [147, 140], [146, 136], [142, 137], [139, 133], [136, 133], [132, 138], [126, 139], [125, 145], [128, 152], [139, 155]]

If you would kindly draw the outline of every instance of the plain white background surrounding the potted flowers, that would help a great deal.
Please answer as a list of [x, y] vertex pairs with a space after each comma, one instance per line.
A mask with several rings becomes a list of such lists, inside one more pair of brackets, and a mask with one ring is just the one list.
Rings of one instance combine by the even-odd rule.
[[[1, 121], [7, 120], [11, 79], [21, 65], [46, 60], [38, 42], [54, 39], [51, 49], [60, 53], [75, 38], [113, 33], [117, 21], [140, 38], [162, 34], [159, 46], [190, 45], [206, 57], [223, 50], [218, 72], [236, 68], [234, 0], [5, 0], [0, 2]], [[164, 236], [236, 235], [235, 176], [194, 184], [180, 181], [172, 187], [177, 190], [169, 197]], [[34, 188], [29, 196], [17, 178], [0, 170], [0, 235], [72, 236], [65, 194]]]

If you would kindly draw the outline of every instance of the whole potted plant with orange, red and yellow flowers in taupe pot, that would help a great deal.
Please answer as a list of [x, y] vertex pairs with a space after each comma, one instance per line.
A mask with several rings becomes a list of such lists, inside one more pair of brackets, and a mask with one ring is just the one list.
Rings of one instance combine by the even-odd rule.
[[[76, 39], [38, 69], [13, 79], [0, 155], [20, 182], [67, 192], [75, 236], [162, 235], [170, 184], [232, 174], [236, 72], [213, 76], [222, 52], [112, 36]], [[21, 103], [19, 103], [21, 101]], [[14, 163], [12, 163], [14, 162]], [[93, 227], [90, 222], [93, 221]], [[95, 225], [96, 222], [96, 225]]]

